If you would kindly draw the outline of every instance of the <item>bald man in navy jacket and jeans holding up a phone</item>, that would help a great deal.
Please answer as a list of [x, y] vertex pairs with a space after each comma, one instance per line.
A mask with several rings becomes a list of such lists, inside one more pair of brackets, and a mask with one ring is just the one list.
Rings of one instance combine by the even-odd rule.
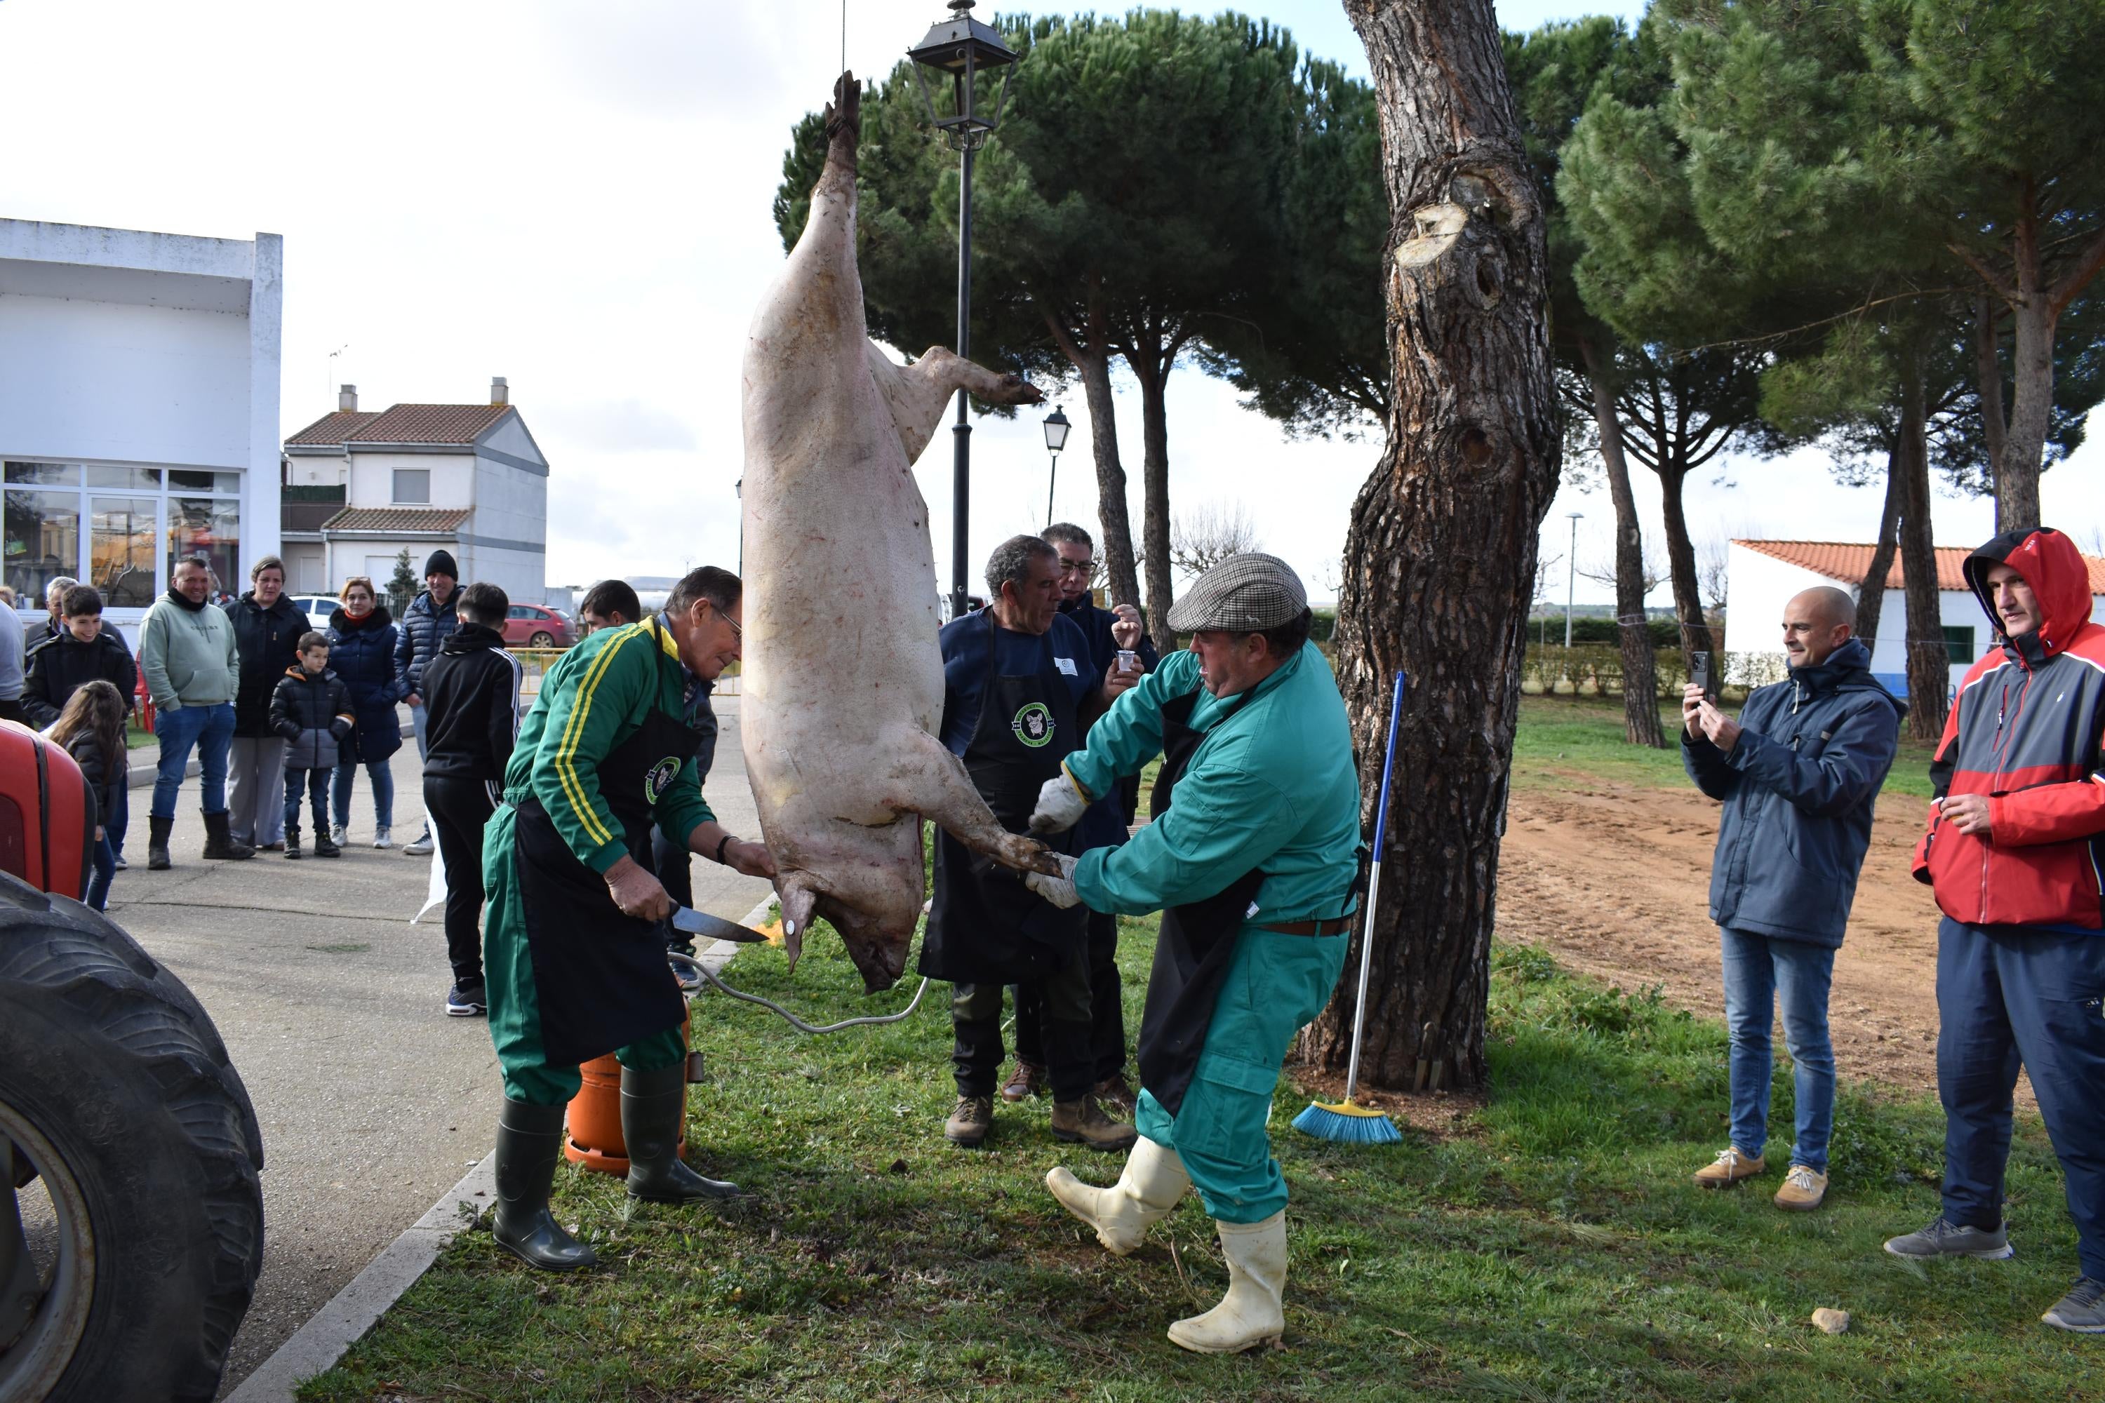
[[1781, 1003], [1798, 1140], [1777, 1207], [1800, 1212], [1827, 1197], [1836, 1109], [1827, 987], [1905, 711], [1871, 679], [1871, 650], [1855, 629], [1855, 599], [1808, 589], [1783, 608], [1787, 682], [1749, 692], [1737, 721], [1701, 688], [1682, 694], [1682, 764], [1697, 789], [1724, 801], [1711, 919], [1732, 1035], [1732, 1142], [1695, 1180], [1728, 1188], [1768, 1172], [1768, 1031]]

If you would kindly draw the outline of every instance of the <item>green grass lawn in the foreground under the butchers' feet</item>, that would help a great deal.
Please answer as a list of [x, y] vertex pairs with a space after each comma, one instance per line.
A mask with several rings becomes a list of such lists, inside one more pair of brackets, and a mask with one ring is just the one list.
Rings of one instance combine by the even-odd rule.
[[[1137, 1029], [1154, 923], [1122, 936]], [[1772, 1207], [1775, 1176], [1705, 1193], [1688, 1174], [1724, 1142], [1722, 1029], [1532, 949], [1501, 947], [1495, 965], [1488, 1104], [1427, 1100], [1438, 1132], [1347, 1148], [1288, 1130], [1307, 1098], [1280, 1087], [1295, 1193], [1280, 1350], [1206, 1359], [1164, 1340], [1225, 1285], [1202, 1207], [1107, 1256], [1040, 1180], [1065, 1161], [1109, 1182], [1118, 1159], [1059, 1146], [1042, 1102], [1002, 1109], [983, 1153], [943, 1144], [943, 987], [903, 1024], [836, 1037], [705, 997], [709, 1081], [688, 1134], [701, 1170], [749, 1191], [741, 1205], [629, 1207], [617, 1182], [566, 1172], [556, 1207], [598, 1247], [596, 1273], [535, 1273], [469, 1231], [299, 1397], [2105, 1397], [2105, 1340], [2038, 1323], [2076, 1258], [2036, 1119], [2010, 1165], [2019, 1256], [1907, 1264], [1880, 1241], [1937, 1214], [1932, 1104], [1844, 1087], [1825, 1212]], [[794, 978], [773, 949], [741, 953], [730, 978], [806, 1016], [876, 1012], [829, 938]], [[1785, 1134], [1789, 1100], [1779, 1069]], [[1812, 1331], [1815, 1306], [1850, 1310], [1852, 1329]]]

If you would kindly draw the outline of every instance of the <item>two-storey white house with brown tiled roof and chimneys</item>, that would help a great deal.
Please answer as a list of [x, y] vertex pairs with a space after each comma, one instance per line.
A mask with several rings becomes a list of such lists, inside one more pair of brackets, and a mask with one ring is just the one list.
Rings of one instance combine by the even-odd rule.
[[461, 583], [488, 581], [539, 602], [547, 583], [547, 459], [509, 402], [503, 377], [488, 404], [358, 408], [345, 385], [337, 412], [284, 442], [284, 566], [293, 593], [337, 593], [352, 574], [387, 591], [400, 551], [423, 562], [446, 549]]

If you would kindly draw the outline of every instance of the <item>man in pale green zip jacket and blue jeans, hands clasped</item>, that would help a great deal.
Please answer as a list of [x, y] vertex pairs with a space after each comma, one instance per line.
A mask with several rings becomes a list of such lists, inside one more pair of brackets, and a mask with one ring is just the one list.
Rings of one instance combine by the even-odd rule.
[[160, 740], [147, 871], [171, 865], [175, 795], [183, 787], [192, 747], [198, 751], [204, 856], [255, 856], [255, 848], [234, 841], [227, 822], [227, 751], [234, 749], [234, 690], [242, 667], [234, 625], [225, 610], [208, 606], [210, 585], [213, 572], [202, 560], [177, 562], [168, 593], [154, 599], [139, 625], [139, 671], [154, 698], [154, 736]]

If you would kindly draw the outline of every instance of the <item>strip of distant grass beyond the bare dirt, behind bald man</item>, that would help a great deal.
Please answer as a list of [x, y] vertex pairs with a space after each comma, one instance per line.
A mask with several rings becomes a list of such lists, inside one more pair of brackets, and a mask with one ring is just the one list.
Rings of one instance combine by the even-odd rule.
[[[1732, 707], [1737, 715], [1739, 709]], [[1587, 789], [1602, 780], [1648, 785], [1655, 789], [1692, 789], [1682, 770], [1678, 705], [1659, 709], [1659, 728], [1667, 749], [1652, 751], [1623, 740], [1621, 696], [1522, 696], [1520, 730], [1513, 736], [1516, 789]], [[1937, 747], [1909, 740], [1901, 724], [1901, 753], [1886, 774], [1880, 793], [1930, 797], [1930, 759]]]

